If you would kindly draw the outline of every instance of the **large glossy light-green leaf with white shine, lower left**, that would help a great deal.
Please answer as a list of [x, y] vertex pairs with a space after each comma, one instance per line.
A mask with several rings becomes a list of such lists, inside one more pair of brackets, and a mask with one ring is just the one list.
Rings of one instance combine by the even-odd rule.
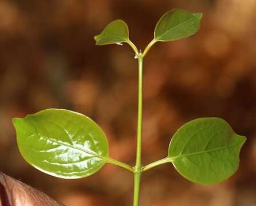
[[27, 163], [56, 177], [76, 179], [99, 171], [108, 158], [104, 132], [90, 118], [46, 109], [14, 118], [19, 151]]

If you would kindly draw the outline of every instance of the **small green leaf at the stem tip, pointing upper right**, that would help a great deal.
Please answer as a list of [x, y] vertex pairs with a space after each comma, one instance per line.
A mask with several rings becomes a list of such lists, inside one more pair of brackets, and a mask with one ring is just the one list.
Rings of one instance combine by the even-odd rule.
[[155, 41], [174, 41], [189, 37], [200, 27], [202, 14], [190, 13], [182, 9], [172, 9], [163, 15], [155, 27]]

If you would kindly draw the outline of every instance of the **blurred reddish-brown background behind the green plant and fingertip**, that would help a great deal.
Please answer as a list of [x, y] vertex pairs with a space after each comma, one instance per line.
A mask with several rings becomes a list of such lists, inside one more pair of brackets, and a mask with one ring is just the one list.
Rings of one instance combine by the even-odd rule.
[[172, 165], [144, 173], [141, 205], [256, 205], [256, 1], [0, 1], [0, 170], [72, 205], [132, 205], [133, 177], [113, 165], [80, 180], [30, 167], [11, 118], [65, 108], [93, 118], [111, 157], [135, 164], [137, 62], [127, 45], [95, 46], [121, 18], [144, 49], [157, 20], [174, 7], [202, 12], [199, 32], [157, 43], [145, 58], [143, 164], [167, 156], [172, 134], [198, 117], [222, 117], [247, 136], [239, 171], [205, 187]]

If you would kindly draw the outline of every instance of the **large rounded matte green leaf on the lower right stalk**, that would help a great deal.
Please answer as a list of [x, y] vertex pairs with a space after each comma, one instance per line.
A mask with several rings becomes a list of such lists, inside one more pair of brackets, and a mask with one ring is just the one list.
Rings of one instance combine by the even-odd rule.
[[199, 118], [172, 137], [168, 157], [178, 172], [195, 183], [220, 183], [233, 175], [246, 137], [220, 118]]

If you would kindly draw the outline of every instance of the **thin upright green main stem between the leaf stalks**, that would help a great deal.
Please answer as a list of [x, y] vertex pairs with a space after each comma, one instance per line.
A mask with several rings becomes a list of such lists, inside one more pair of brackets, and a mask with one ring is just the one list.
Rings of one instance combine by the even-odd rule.
[[142, 137], [142, 104], [143, 104], [143, 55], [139, 53], [139, 95], [138, 95], [138, 122], [137, 122], [137, 152], [136, 165], [134, 171], [134, 196], [133, 206], [139, 206], [140, 197], [140, 176], [142, 173], [141, 167], [141, 137]]

